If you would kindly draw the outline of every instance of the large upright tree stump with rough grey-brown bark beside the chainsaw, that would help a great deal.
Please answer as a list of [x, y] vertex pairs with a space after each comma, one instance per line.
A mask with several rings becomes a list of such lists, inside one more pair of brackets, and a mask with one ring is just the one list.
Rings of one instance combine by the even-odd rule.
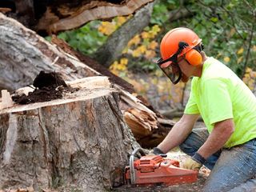
[[[106, 77], [96, 77], [104, 78]], [[117, 90], [84, 78], [72, 94], [0, 110], [0, 189], [33, 186], [82, 191], [122, 184], [138, 147], [118, 106]]]

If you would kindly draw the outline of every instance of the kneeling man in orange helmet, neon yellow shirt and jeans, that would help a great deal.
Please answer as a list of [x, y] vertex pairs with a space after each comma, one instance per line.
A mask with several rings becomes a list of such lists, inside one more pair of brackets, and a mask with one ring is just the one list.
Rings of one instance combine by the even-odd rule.
[[[202, 39], [187, 28], [170, 30], [162, 38], [158, 66], [174, 84], [193, 79], [182, 118], [154, 154], [180, 146], [191, 156], [183, 168], [208, 167], [203, 191], [256, 191], [256, 98], [236, 74], [202, 49]], [[207, 130], [192, 130], [199, 115]]]

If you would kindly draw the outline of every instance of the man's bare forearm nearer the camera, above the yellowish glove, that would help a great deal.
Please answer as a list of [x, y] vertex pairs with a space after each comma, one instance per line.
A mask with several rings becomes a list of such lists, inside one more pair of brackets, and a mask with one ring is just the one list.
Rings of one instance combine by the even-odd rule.
[[205, 159], [209, 158], [211, 154], [214, 154], [224, 146], [233, 132], [233, 118], [215, 123], [214, 129], [210, 133], [206, 142], [199, 148], [198, 154], [201, 154]]

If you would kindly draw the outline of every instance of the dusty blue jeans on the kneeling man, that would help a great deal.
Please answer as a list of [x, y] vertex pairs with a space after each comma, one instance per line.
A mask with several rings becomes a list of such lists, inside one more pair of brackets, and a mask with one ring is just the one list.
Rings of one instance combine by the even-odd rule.
[[[193, 156], [208, 135], [204, 128], [194, 129], [180, 145], [181, 150]], [[256, 191], [256, 138], [230, 149], [219, 150], [206, 159], [204, 166], [211, 172], [202, 191]]]

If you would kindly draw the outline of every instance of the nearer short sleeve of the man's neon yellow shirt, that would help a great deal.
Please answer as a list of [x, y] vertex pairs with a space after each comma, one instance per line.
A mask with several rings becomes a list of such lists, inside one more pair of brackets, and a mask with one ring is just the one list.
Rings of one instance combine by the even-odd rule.
[[210, 124], [233, 117], [233, 107], [226, 82], [209, 79], [204, 84], [202, 99]]

